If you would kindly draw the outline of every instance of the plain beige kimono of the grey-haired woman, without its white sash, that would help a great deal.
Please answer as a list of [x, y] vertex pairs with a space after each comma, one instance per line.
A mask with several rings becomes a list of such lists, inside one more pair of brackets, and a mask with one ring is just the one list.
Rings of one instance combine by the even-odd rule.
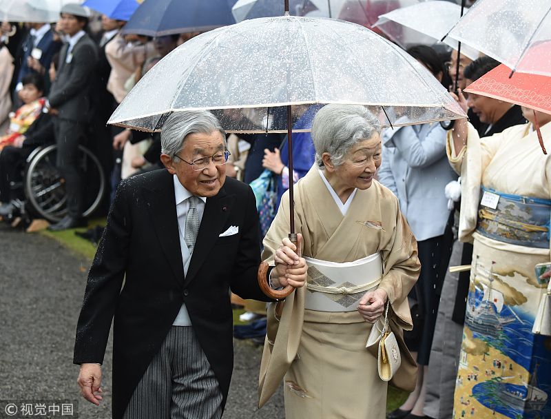
[[[419, 276], [417, 242], [399, 212], [397, 198], [377, 181], [357, 190], [343, 216], [313, 167], [295, 185], [295, 229], [302, 233], [302, 254], [343, 263], [381, 252], [384, 274], [380, 287], [390, 298], [391, 327], [397, 334], [402, 367], [398, 387], [415, 388], [415, 361], [402, 329], [411, 329], [407, 302]], [[382, 226], [382, 227], [381, 227]], [[262, 259], [273, 254], [289, 233], [289, 192], [264, 238]], [[304, 309], [306, 289], [297, 289], [284, 303], [281, 319], [268, 312], [268, 333], [260, 366], [260, 406], [284, 378], [285, 413], [289, 418], [384, 418], [386, 382], [377, 373], [377, 358], [366, 349], [371, 325], [357, 311]]]

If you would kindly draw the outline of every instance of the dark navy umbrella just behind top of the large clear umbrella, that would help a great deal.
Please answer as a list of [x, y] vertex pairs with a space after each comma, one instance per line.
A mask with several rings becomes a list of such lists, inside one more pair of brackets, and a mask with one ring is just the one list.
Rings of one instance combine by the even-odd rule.
[[233, 25], [236, 0], [145, 0], [123, 28], [123, 34], [162, 37], [183, 32], [205, 32]]

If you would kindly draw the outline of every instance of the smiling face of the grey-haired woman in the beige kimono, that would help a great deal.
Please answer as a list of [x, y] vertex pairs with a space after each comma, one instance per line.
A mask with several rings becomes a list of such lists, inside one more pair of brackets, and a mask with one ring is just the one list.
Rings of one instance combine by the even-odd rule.
[[366, 190], [381, 165], [381, 137], [375, 133], [371, 139], [356, 143], [346, 154], [344, 162], [335, 167], [335, 174], [346, 187]]

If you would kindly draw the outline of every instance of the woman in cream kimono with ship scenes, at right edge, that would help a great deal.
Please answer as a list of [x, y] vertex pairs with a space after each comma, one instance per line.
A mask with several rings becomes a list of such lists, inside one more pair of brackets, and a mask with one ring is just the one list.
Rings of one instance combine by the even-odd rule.
[[[464, 119], [448, 134], [459, 240], [474, 245], [455, 418], [551, 417], [551, 338], [532, 333], [548, 282], [534, 268], [550, 264], [551, 159], [523, 114], [530, 123], [482, 139]], [[551, 115], [537, 118], [550, 150]]]

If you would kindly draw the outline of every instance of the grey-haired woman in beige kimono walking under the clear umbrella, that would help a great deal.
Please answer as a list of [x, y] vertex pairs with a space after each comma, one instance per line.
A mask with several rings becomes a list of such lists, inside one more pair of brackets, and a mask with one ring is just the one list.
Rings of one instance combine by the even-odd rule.
[[[338, 267], [380, 255], [380, 267], [375, 282], [358, 278], [351, 287], [356, 292], [350, 292], [349, 284], [335, 276], [329, 283], [318, 280], [310, 265], [309, 289], [288, 296], [280, 317], [275, 304], [269, 307], [260, 406], [284, 379], [287, 419], [380, 419], [386, 411], [387, 382], [379, 377], [377, 356], [366, 349], [366, 340], [390, 301], [388, 316], [402, 354], [393, 384], [413, 391], [416, 366], [402, 329], [412, 327], [407, 296], [419, 276], [417, 243], [397, 198], [374, 178], [382, 152], [375, 116], [359, 105], [326, 105], [315, 116], [312, 137], [315, 164], [294, 187], [303, 256]], [[264, 238], [263, 260], [273, 265], [288, 232], [286, 192]], [[371, 285], [362, 289], [366, 283]], [[314, 303], [320, 298], [326, 300], [326, 309]]]

